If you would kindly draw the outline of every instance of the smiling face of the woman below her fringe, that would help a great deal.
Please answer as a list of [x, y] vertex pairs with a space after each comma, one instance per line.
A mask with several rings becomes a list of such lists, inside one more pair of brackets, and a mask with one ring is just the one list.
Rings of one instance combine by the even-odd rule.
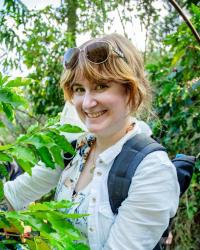
[[90, 84], [81, 79], [72, 86], [72, 102], [80, 119], [96, 136], [112, 136], [129, 125], [125, 87], [111, 83]]

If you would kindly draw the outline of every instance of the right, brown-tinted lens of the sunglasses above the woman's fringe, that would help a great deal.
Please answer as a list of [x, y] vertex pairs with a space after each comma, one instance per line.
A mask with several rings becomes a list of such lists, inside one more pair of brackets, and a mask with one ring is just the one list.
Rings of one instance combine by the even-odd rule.
[[90, 44], [85, 49], [89, 61], [93, 63], [103, 63], [109, 55], [109, 44], [105, 42], [96, 42]]

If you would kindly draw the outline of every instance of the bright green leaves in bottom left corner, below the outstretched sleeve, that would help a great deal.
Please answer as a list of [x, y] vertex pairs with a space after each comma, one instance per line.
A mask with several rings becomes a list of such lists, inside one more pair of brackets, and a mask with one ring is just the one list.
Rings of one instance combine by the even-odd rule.
[[[20, 241], [30, 250], [89, 249], [81, 243], [85, 239], [71, 223], [71, 220], [87, 215], [66, 213], [72, 205], [69, 201], [51, 201], [31, 204], [26, 211], [0, 211], [0, 228], [4, 228], [0, 235], [9, 238], [0, 242], [1, 249]], [[29, 232], [24, 233], [27, 226]]]

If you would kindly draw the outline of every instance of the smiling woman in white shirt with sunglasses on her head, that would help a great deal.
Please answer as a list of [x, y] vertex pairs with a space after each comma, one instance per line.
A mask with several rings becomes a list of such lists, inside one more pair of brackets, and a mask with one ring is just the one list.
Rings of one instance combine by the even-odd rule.
[[[75, 224], [91, 249], [152, 250], [178, 206], [176, 170], [167, 154], [153, 152], [139, 164], [117, 215], [112, 213], [107, 189], [109, 170], [122, 146], [142, 132], [133, 116], [150, 110], [151, 91], [141, 57], [129, 40], [111, 34], [69, 49], [64, 66], [65, 97], [89, 132], [78, 138], [77, 154], [62, 174], [57, 171], [54, 180], [43, 176], [39, 189], [45, 186], [48, 191], [61, 174], [55, 199], [73, 200], [77, 204], [70, 212], [90, 214]], [[36, 172], [26, 177], [27, 185], [34, 176]], [[5, 186], [15, 209], [31, 200], [26, 196], [16, 205], [18, 186], [17, 180]]]

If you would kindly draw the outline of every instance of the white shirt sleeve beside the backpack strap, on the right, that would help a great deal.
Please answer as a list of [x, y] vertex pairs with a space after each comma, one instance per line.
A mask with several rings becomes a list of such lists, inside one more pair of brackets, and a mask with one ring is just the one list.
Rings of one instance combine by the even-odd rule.
[[103, 250], [152, 250], [176, 213], [179, 184], [165, 152], [149, 154], [138, 166]]

